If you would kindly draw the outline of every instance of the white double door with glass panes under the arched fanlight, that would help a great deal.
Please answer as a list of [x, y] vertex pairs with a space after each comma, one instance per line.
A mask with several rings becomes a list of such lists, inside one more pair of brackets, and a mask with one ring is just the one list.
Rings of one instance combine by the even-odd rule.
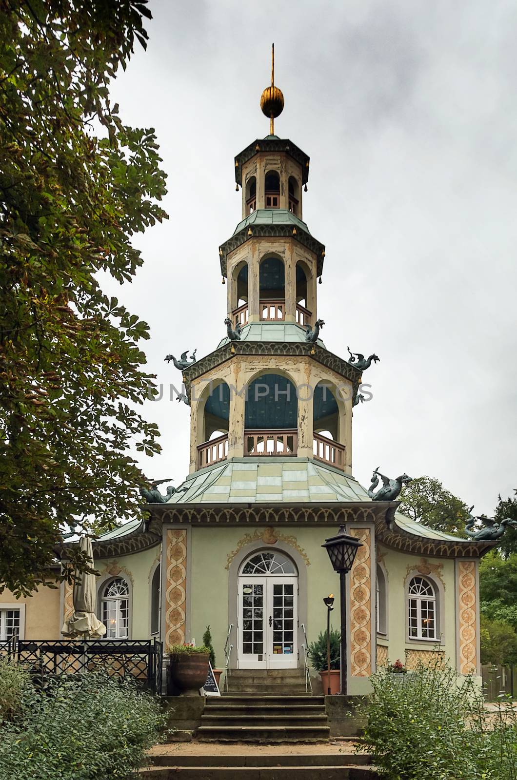
[[298, 576], [241, 575], [238, 599], [239, 667], [298, 667]]

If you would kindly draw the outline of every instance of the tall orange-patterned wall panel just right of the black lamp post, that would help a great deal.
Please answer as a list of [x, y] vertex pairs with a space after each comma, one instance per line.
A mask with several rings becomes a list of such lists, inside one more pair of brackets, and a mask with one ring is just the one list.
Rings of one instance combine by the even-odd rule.
[[350, 578], [350, 668], [352, 677], [372, 674], [372, 574], [369, 528], [351, 528], [362, 541]]

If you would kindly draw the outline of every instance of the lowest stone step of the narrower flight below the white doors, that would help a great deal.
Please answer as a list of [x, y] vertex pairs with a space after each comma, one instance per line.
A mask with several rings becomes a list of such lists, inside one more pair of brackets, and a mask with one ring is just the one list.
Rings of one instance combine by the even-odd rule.
[[198, 729], [197, 739], [200, 742], [312, 742], [329, 739], [330, 727], [321, 726], [273, 726], [273, 725], [235, 725], [235, 726], [204, 726]]

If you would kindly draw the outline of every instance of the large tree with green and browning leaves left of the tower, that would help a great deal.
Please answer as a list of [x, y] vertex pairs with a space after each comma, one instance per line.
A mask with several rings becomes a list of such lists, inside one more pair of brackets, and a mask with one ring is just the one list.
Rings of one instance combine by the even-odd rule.
[[148, 325], [99, 282], [131, 281], [132, 237], [166, 217], [154, 130], [109, 101], [147, 2], [0, 2], [0, 582], [16, 594], [47, 580], [68, 521], [136, 516], [128, 446], [159, 451], [134, 408], [155, 392]]

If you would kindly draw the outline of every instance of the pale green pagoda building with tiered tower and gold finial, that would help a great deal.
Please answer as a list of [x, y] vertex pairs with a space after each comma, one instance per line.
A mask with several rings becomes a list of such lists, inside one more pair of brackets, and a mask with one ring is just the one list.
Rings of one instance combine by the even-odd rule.
[[[326, 629], [323, 598], [339, 592], [322, 544], [344, 525], [361, 542], [346, 580], [348, 693], [368, 692], [388, 659], [411, 669], [444, 656], [458, 675], [480, 675], [478, 564], [495, 542], [426, 528], [375, 491], [381, 475], [368, 489], [355, 480], [353, 410], [377, 358], [326, 349], [325, 246], [303, 212], [309, 157], [274, 131], [273, 79], [261, 105], [270, 132], [235, 157], [241, 221], [219, 246], [227, 304], [214, 329], [226, 316], [226, 337], [198, 360], [174, 359], [191, 407], [189, 473], [167, 495], [146, 491], [148, 519], [94, 541], [98, 615], [108, 638], [155, 636], [166, 650], [200, 644], [209, 625], [219, 667], [303, 670]], [[37, 597], [9, 598], [23, 604], [25, 636], [52, 638], [31, 624]], [[52, 598], [46, 630], [59, 638], [71, 587]], [[332, 620], [339, 629], [339, 609]]]

